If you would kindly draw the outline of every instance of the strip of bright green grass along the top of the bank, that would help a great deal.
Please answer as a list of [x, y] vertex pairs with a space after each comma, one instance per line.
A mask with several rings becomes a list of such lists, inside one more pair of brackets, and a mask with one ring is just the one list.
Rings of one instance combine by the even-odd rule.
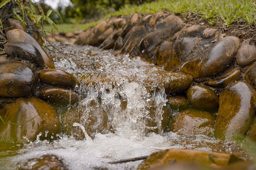
[[[145, 3], [140, 6], [125, 5], [120, 10], [109, 14], [111, 16], [131, 16], [138, 12], [140, 14], [152, 14], [160, 11], [168, 11], [171, 14], [181, 14], [186, 20], [189, 14], [196, 14], [205, 19], [209, 24], [221, 24], [226, 27], [233, 23], [244, 25], [256, 25], [256, 0], [158, 0]], [[75, 29], [87, 29], [99, 21], [85, 24], [58, 24], [59, 32], [74, 31]], [[46, 26], [46, 31], [52, 27]], [[53, 32], [56, 32], [54, 30]]]

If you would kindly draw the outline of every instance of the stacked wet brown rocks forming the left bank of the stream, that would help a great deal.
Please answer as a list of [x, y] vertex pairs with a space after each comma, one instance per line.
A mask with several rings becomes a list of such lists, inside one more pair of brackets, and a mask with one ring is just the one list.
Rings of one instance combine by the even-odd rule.
[[[23, 143], [52, 140], [61, 132], [56, 110], [50, 104], [74, 105], [76, 78], [55, 69], [42, 46], [15, 19], [4, 23], [7, 56], [0, 57], [0, 141]], [[50, 104], [48, 104], [50, 103]]]

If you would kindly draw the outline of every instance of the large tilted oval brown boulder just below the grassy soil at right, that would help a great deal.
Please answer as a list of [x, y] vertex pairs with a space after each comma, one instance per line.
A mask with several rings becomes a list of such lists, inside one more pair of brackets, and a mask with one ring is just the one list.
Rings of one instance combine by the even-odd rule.
[[204, 78], [222, 72], [234, 60], [239, 45], [238, 37], [224, 37], [185, 61], [180, 70], [194, 78]]

